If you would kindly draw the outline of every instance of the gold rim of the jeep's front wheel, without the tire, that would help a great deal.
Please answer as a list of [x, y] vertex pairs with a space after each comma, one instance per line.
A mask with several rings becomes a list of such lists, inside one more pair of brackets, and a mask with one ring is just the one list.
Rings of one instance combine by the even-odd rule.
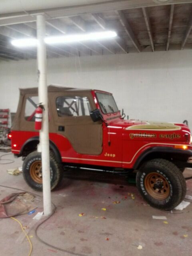
[[144, 186], [150, 196], [158, 200], [168, 198], [170, 194], [170, 185], [166, 178], [158, 172], [147, 174], [144, 180]]

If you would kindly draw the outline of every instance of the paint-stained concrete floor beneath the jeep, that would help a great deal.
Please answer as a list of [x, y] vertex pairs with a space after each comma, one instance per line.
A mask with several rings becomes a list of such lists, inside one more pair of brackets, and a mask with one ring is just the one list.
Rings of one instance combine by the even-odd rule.
[[[0, 156], [2, 154], [5, 153], [0, 153]], [[34, 192], [24, 182], [22, 174], [12, 176], [6, 172], [8, 168], [22, 166], [22, 160], [12, 155], [4, 158], [14, 159], [15, 162], [0, 164], [0, 185]], [[185, 176], [190, 174], [192, 170], [185, 170]], [[187, 187], [187, 194], [192, 195], [192, 180], [188, 180]], [[0, 187], [0, 199], [12, 192], [16, 190]], [[120, 203], [114, 204], [114, 201]], [[157, 210], [148, 206], [138, 194], [136, 186], [128, 184], [123, 177], [66, 172], [60, 188], [52, 192], [52, 202], [57, 207], [56, 212], [40, 226], [38, 235], [47, 243], [68, 252], [41, 243], [34, 234], [34, 227], [41, 220], [32, 220], [36, 213], [24, 214], [16, 218], [26, 226], [31, 236], [32, 255], [191, 255], [192, 204], [183, 211], [173, 211], [173, 214]], [[42, 201], [38, 206], [42, 207]], [[106, 208], [106, 211], [102, 208]], [[42, 212], [42, 208], [37, 208], [37, 212]], [[79, 217], [80, 213], [85, 215]], [[152, 219], [152, 215], [166, 216], [168, 224], [164, 220]], [[141, 250], [138, 250], [138, 245], [142, 245]], [[27, 256], [29, 248], [19, 224], [10, 218], [0, 219], [0, 255]]]

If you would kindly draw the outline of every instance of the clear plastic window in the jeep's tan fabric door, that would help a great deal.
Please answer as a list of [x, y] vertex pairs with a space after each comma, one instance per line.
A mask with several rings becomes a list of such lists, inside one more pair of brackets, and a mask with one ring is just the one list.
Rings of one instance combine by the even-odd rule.
[[90, 102], [83, 96], [62, 96], [56, 98], [58, 116], [89, 116]]

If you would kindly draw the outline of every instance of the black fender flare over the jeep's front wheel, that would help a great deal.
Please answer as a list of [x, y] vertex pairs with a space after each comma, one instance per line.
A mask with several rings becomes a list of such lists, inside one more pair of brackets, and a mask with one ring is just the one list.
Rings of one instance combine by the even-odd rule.
[[178, 148], [172, 148], [172, 147], [152, 147], [148, 148], [140, 156], [137, 158], [136, 162], [134, 163], [133, 168], [137, 169], [141, 162], [146, 158], [148, 155], [152, 153], [168, 153], [168, 154], [183, 154], [186, 156], [192, 156], [192, 150], [184, 150], [184, 149], [178, 149]]

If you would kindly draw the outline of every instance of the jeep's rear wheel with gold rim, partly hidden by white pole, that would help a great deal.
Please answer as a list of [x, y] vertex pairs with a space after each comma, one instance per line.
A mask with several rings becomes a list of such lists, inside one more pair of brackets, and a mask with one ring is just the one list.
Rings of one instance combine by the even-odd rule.
[[[28, 154], [23, 162], [23, 177], [26, 183], [37, 191], [43, 190], [42, 184], [42, 163], [41, 153], [32, 152]], [[62, 180], [62, 164], [56, 161], [52, 152], [50, 152], [50, 181], [51, 190], [54, 190]]]

